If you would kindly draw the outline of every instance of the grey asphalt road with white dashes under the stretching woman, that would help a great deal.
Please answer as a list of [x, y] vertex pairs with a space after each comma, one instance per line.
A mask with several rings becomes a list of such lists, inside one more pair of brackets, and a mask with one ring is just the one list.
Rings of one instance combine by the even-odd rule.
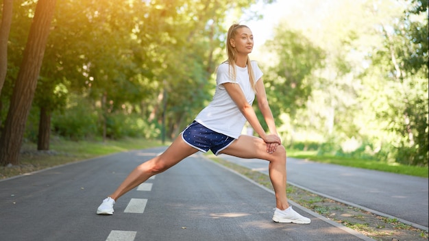
[[0, 240], [370, 240], [303, 210], [310, 225], [273, 223], [272, 192], [201, 155], [95, 214], [130, 171], [163, 149], [99, 157], [0, 181]]

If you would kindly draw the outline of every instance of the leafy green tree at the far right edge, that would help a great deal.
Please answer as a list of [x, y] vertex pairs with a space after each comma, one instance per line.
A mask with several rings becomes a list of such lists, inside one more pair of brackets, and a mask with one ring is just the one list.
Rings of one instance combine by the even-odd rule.
[[385, 71], [380, 92], [388, 107], [378, 113], [397, 137], [390, 142], [392, 158], [419, 166], [427, 166], [429, 157], [427, 12], [427, 1], [413, 0], [402, 21], [382, 23], [384, 46], [372, 58], [376, 70]]

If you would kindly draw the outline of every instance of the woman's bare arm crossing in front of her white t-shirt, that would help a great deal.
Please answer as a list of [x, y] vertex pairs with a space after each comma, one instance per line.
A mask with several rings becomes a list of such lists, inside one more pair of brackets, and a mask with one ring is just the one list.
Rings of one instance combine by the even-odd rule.
[[243, 113], [243, 116], [245, 116], [247, 121], [249, 121], [249, 124], [252, 125], [254, 131], [256, 131], [256, 133], [260, 136], [260, 138], [262, 138], [267, 143], [273, 143], [273, 142], [276, 142], [278, 144], [282, 143], [280, 140], [280, 137], [276, 133], [272, 135], [267, 135], [265, 133], [264, 129], [262, 128], [262, 125], [260, 125], [258, 121], [258, 117], [256, 116], [256, 113], [252, 105], [249, 105], [249, 103], [247, 103], [243, 90], [241, 90], [238, 84], [224, 83], [223, 86], [225, 87], [225, 90], [228, 92], [228, 94], [230, 94], [230, 97], [232, 98], [232, 100], [236, 103], [238, 109], [241, 111], [241, 113]]

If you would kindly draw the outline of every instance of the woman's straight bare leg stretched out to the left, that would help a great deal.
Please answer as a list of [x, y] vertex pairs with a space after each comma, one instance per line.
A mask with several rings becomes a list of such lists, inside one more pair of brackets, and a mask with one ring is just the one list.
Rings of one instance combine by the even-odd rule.
[[149, 177], [162, 173], [164, 170], [171, 168], [175, 164], [184, 160], [185, 157], [196, 153], [198, 150], [186, 144], [182, 139], [182, 136], [177, 137], [170, 147], [164, 151], [161, 155], [152, 158], [147, 162], [143, 162], [137, 166], [130, 175], [121, 183], [121, 185], [109, 196], [117, 200], [123, 194], [136, 188], [136, 186], [143, 183]]

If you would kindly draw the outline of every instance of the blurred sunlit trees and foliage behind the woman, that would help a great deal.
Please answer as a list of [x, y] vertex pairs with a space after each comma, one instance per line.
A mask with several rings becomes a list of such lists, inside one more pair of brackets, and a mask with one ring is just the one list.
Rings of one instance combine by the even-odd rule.
[[[10, 103], [38, 4], [12, 2], [2, 134], [21, 111]], [[57, 0], [16, 135], [39, 150], [53, 137], [175, 138], [212, 98], [232, 23], [253, 31], [286, 147], [428, 166], [428, 2], [417, 0]]]

